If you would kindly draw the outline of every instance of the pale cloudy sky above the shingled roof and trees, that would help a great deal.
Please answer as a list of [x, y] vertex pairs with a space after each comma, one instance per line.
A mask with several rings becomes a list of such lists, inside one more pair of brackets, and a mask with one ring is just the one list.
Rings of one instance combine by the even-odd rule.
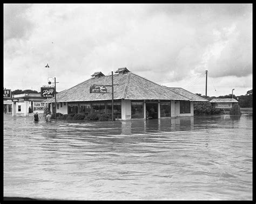
[[60, 92], [119, 67], [202, 95], [207, 70], [207, 95], [245, 95], [252, 4], [4, 4], [4, 88], [56, 77]]

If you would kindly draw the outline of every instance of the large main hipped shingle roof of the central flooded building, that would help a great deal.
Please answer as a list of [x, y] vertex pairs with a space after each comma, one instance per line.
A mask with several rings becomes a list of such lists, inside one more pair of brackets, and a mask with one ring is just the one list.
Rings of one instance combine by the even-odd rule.
[[[107, 93], [90, 93], [91, 85], [104, 85]], [[123, 75], [113, 75], [114, 100], [185, 100], [189, 101], [178, 93], [172, 92], [166, 87], [158, 85], [150, 80], [142, 78], [131, 72]], [[69, 89], [56, 94], [57, 102], [78, 102], [78, 101], [103, 101], [112, 99], [112, 76], [101, 76], [98, 79], [91, 78]], [[44, 103], [53, 103], [55, 98], [45, 100]]]

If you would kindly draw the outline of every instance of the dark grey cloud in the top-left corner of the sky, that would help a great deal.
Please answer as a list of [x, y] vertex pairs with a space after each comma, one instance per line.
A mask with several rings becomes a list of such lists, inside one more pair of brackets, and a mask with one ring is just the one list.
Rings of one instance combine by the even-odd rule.
[[30, 33], [32, 23], [26, 10], [31, 4], [4, 4], [4, 40], [23, 38]]

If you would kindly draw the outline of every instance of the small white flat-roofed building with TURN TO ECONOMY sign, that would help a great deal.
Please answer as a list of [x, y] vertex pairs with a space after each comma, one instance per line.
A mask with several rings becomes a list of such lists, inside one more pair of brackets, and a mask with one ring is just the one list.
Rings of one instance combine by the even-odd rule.
[[24, 115], [28, 116], [29, 113], [38, 112], [43, 113], [45, 99], [41, 97], [41, 94], [16, 94], [12, 95], [12, 115]]

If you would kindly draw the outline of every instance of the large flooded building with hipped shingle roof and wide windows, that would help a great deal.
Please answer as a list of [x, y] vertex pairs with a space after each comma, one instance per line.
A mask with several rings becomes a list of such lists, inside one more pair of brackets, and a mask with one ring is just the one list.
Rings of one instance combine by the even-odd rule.
[[[168, 88], [131, 73], [126, 67], [113, 74], [113, 116], [117, 119], [193, 116], [193, 101], [207, 101], [182, 88]], [[62, 114], [108, 114], [112, 116], [112, 75], [102, 72], [56, 95]], [[93, 88], [102, 92], [93, 93]], [[104, 90], [103, 90], [104, 89]], [[182, 92], [182, 93], [181, 93]], [[192, 96], [193, 95], [193, 96]], [[45, 100], [51, 112], [55, 98]]]

